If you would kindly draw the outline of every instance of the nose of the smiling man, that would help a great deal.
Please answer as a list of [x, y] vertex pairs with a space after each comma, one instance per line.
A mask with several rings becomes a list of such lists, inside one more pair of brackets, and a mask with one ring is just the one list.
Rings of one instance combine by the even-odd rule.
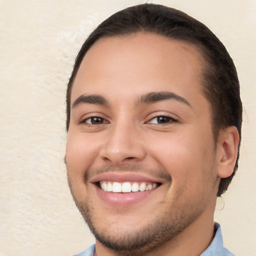
[[145, 155], [143, 138], [136, 125], [116, 123], [109, 129], [100, 157], [113, 165], [141, 161]]

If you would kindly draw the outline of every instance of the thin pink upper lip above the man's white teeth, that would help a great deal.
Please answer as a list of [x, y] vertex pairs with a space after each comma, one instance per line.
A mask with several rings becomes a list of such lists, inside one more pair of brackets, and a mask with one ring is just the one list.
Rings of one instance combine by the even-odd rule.
[[146, 174], [139, 174], [139, 173], [117, 173], [117, 172], [104, 172], [95, 176], [92, 176], [89, 180], [91, 183], [109, 180], [109, 181], [116, 181], [116, 182], [125, 182], [125, 181], [137, 181], [137, 182], [157, 182], [162, 183], [163, 180], [159, 177], [152, 177]]

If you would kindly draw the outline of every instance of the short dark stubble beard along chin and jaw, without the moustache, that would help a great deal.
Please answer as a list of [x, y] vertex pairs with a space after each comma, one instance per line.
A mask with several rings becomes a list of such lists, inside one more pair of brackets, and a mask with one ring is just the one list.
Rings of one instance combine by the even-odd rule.
[[109, 231], [109, 227], [97, 226], [97, 221], [93, 217], [96, 211], [93, 201], [88, 197], [84, 201], [76, 200], [70, 184], [69, 187], [77, 208], [96, 240], [105, 248], [123, 256], [142, 256], [156, 251], [188, 227], [203, 211], [201, 205], [186, 204], [182, 208], [173, 208], [172, 205], [169, 212], [154, 217], [142, 227], [134, 227], [133, 231], [127, 232], [121, 230], [120, 223], [120, 228], [114, 233], [112, 230]]

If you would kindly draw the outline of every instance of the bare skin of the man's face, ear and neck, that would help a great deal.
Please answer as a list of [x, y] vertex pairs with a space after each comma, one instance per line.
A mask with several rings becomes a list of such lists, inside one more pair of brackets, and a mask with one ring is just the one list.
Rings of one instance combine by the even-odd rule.
[[[201, 60], [193, 45], [150, 33], [101, 38], [85, 54], [71, 91], [65, 159], [95, 255], [196, 256], [211, 242], [218, 184], [232, 173], [239, 137], [231, 126], [213, 139]], [[172, 97], [143, 100], [151, 92]], [[112, 203], [112, 192], [100, 197], [95, 183], [103, 173], [160, 185], [137, 201], [116, 195]]]

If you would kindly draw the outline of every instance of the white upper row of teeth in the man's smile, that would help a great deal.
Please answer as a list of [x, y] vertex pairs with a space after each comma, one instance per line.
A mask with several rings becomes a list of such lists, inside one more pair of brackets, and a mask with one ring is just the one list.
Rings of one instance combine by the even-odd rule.
[[123, 192], [123, 193], [128, 193], [128, 192], [137, 192], [137, 191], [146, 191], [153, 189], [157, 186], [157, 184], [154, 183], [148, 183], [146, 184], [145, 182], [110, 182], [110, 181], [100, 181], [99, 182], [100, 187], [104, 191], [108, 192]]

